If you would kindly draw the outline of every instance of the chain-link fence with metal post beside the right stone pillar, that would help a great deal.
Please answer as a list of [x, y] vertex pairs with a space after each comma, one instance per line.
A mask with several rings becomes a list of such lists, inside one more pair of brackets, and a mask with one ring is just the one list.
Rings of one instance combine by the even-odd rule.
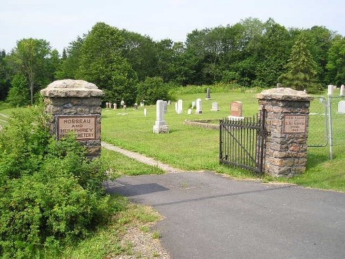
[[309, 112], [308, 146], [324, 148], [331, 159], [345, 153], [345, 97], [316, 97]]

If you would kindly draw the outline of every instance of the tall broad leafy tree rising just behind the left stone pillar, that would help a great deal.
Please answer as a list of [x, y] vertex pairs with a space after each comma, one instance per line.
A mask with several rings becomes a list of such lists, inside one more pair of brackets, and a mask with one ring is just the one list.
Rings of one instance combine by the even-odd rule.
[[76, 77], [96, 84], [105, 91], [105, 98], [134, 104], [137, 74], [123, 56], [124, 38], [117, 28], [97, 23], [81, 45]]

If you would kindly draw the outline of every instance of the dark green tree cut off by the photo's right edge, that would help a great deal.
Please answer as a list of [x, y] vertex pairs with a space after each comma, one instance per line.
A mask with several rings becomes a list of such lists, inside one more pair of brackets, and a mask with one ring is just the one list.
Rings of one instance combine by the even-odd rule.
[[345, 82], [345, 39], [338, 37], [328, 51], [326, 65], [328, 84], [339, 86]]

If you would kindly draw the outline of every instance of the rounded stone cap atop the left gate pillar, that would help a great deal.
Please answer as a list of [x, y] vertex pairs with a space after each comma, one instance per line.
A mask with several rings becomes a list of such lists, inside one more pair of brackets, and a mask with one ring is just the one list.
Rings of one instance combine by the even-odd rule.
[[84, 80], [63, 79], [50, 83], [41, 90], [46, 97], [101, 97], [103, 90]]

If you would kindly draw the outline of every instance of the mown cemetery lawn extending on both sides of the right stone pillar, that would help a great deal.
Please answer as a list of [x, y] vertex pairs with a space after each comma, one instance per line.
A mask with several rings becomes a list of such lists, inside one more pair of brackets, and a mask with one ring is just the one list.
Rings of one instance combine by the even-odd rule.
[[[261, 90], [260, 90], [261, 91]], [[206, 93], [177, 95], [184, 101], [184, 113], [175, 113], [175, 104], [168, 106], [166, 122], [170, 133], [154, 134], [155, 106], [146, 106], [148, 115], [145, 117], [143, 108], [134, 111], [104, 108], [102, 111], [102, 140], [121, 148], [135, 151], [175, 166], [186, 171], [215, 171], [226, 173], [235, 178], [257, 178], [253, 173], [229, 166], [219, 165], [219, 132], [188, 126], [185, 119], [221, 119], [229, 115], [230, 102], [243, 103], [244, 117], [251, 117], [259, 111], [253, 90], [233, 90], [227, 93], [212, 93], [212, 99], [206, 100]], [[202, 99], [203, 114], [188, 115], [187, 110], [192, 101]], [[212, 102], [218, 102], [220, 111], [210, 111]], [[313, 111], [311, 111], [312, 113]], [[195, 110], [193, 111], [195, 113]], [[217, 121], [215, 122], [217, 124]], [[321, 125], [324, 122], [320, 122]], [[310, 128], [310, 131], [315, 128]], [[290, 179], [264, 177], [264, 181], [289, 182], [318, 189], [345, 191], [345, 145], [335, 146], [335, 160], [328, 160], [328, 147], [308, 148], [306, 173]]]

